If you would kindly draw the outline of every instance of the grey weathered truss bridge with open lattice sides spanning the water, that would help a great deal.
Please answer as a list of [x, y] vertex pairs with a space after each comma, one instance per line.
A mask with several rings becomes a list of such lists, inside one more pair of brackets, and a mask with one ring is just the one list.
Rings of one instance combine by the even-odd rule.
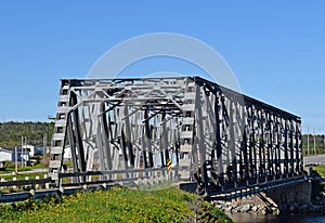
[[64, 79], [49, 174], [69, 185], [192, 182], [208, 196], [283, 185], [303, 180], [300, 124], [199, 77]]

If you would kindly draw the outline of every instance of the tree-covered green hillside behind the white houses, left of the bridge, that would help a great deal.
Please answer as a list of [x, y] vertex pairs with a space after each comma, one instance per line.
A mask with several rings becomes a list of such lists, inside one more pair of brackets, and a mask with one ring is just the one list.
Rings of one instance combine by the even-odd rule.
[[14, 147], [21, 145], [22, 136], [27, 143], [35, 145], [43, 144], [43, 135], [47, 135], [48, 145], [51, 143], [54, 122], [4, 122], [0, 123], [0, 146]]

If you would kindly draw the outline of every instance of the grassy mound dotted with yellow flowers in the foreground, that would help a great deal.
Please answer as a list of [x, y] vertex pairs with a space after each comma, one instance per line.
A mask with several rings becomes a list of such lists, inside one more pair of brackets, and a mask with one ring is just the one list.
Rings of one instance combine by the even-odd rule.
[[220, 210], [177, 188], [77, 193], [46, 200], [2, 205], [0, 221], [6, 222], [232, 222]]

